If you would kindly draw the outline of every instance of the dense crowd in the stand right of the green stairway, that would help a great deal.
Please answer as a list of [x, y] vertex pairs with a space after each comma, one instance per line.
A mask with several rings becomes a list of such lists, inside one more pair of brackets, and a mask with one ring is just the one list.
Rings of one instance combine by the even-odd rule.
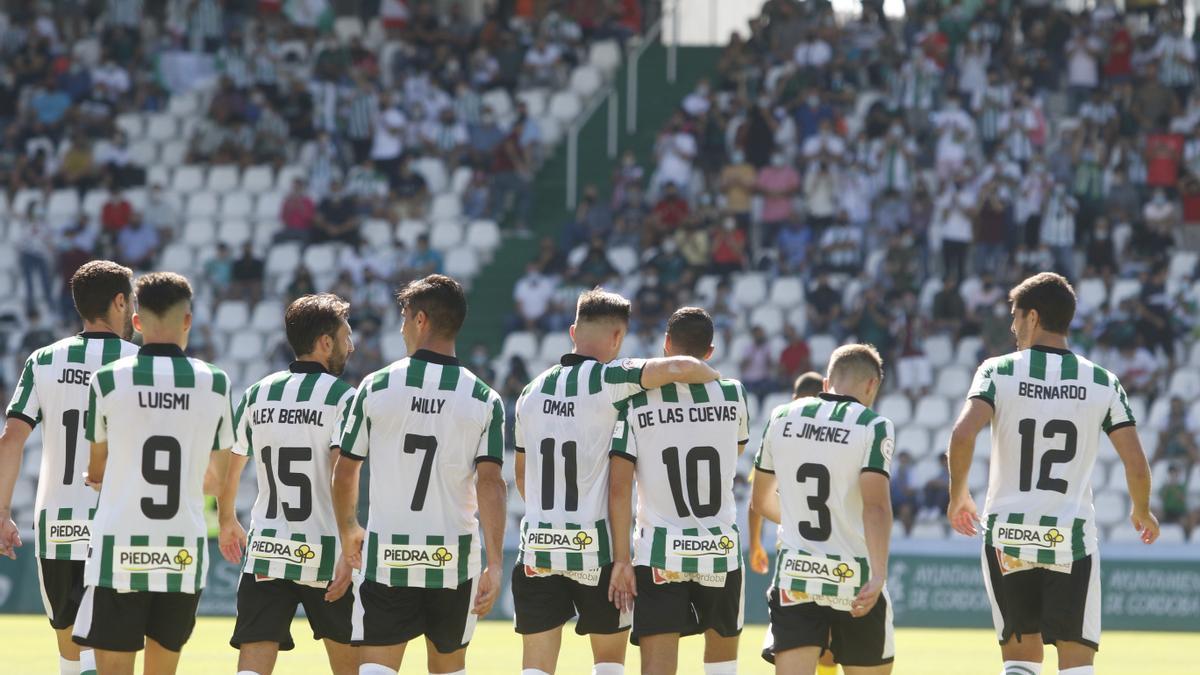
[[[1056, 270], [1080, 294], [1074, 348], [1157, 404], [1144, 438], [1159, 501], [1190, 532], [1200, 410], [1180, 396], [1200, 393], [1200, 31], [1174, 5], [1111, 0], [908, 2], [901, 20], [864, 6], [768, 0], [653, 157], [628, 154], [608, 193], [583, 191], [517, 285], [510, 329], [560, 330], [575, 292], [606, 282], [635, 299], [643, 351], [696, 301], [732, 351], [716, 358], [761, 398], [823, 365], [820, 335], [875, 344], [884, 390], [919, 407], [970, 381], [935, 392], [934, 352], [966, 340], [973, 368], [1010, 351], [1008, 288]], [[760, 311], [768, 298], [743, 292], [796, 277], [803, 310]], [[930, 460], [910, 476], [906, 455], [894, 489], [911, 528], [944, 508], [946, 474]]]

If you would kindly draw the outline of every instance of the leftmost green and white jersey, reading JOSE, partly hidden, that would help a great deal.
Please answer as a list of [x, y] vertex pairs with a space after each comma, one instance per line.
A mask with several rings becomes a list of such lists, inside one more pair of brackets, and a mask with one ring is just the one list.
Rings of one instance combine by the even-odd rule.
[[42, 426], [38, 471], [37, 555], [86, 560], [96, 491], [83, 484], [90, 449], [84, 438], [88, 384], [100, 366], [137, 353], [113, 333], [80, 333], [37, 350], [25, 360], [8, 417]]

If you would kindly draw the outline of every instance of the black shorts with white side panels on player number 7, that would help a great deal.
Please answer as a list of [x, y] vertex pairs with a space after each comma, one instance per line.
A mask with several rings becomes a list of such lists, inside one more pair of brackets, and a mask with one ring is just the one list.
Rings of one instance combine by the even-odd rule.
[[401, 645], [425, 635], [439, 653], [454, 653], [470, 643], [479, 616], [474, 578], [457, 589], [386, 586], [361, 579], [354, 583], [350, 644]]

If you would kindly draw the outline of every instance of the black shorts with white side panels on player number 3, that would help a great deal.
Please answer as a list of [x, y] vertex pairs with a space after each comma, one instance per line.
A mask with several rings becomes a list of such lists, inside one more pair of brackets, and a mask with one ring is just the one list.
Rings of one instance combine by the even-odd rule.
[[892, 663], [895, 658], [887, 589], [871, 611], [859, 619], [848, 611], [811, 602], [782, 607], [779, 589], [772, 589], [767, 595], [767, 607], [770, 608], [770, 626], [762, 657], [769, 663], [775, 663], [776, 652], [797, 647], [832, 650], [838, 663], [863, 668]]

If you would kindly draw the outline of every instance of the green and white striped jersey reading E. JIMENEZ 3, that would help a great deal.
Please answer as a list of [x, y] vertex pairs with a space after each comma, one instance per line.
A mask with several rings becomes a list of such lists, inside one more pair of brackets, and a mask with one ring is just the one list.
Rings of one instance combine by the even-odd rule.
[[[778, 587], [852, 596], [870, 579], [859, 476], [864, 471], [888, 476], [894, 448], [892, 420], [852, 396], [823, 393], [772, 412], [755, 468], [775, 473], [779, 483]], [[797, 555], [812, 560], [794, 565]], [[854, 572], [809, 575], [811, 569], [820, 572], [820, 561], [846, 561]], [[835, 586], [827, 583], [830, 579], [851, 583]]]

